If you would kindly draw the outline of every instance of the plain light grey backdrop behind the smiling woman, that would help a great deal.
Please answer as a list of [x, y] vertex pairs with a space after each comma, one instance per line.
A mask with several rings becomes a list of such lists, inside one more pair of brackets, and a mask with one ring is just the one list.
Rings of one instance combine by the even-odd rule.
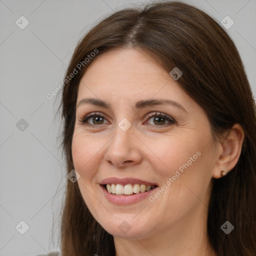
[[[77, 40], [95, 21], [136, 2], [143, 1], [0, 0], [0, 256], [58, 250], [61, 200], [70, 181], [54, 118], [60, 93], [51, 100], [46, 95], [63, 80]], [[183, 2], [218, 21], [231, 17], [227, 31], [256, 92], [256, 0]], [[15, 23], [24, 25], [21, 15], [29, 21], [24, 29]], [[17, 231], [25, 228], [21, 220], [29, 226], [24, 234]]]

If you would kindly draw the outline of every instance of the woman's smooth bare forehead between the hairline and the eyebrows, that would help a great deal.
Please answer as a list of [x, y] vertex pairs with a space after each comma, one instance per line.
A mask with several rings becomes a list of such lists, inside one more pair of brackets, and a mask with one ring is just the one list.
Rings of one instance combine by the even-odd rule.
[[[80, 94], [106, 95], [110, 92], [132, 97], [166, 93], [183, 93], [151, 56], [138, 49], [113, 49], [97, 56], [88, 66], [79, 83]], [[94, 95], [95, 96], [95, 95]]]

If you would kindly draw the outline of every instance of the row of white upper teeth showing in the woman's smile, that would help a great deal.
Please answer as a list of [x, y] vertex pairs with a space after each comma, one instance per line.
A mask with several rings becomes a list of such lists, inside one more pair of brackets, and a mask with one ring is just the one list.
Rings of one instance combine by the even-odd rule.
[[149, 191], [151, 188], [154, 188], [155, 185], [140, 185], [140, 184], [106, 184], [106, 190], [108, 193], [112, 194], [133, 194], [133, 193], [143, 193]]

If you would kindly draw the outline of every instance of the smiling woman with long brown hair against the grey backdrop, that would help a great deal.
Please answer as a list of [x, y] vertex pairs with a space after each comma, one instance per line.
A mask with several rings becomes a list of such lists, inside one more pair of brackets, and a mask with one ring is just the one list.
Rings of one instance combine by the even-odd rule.
[[255, 103], [218, 22], [180, 2], [117, 11], [64, 82], [62, 256], [256, 255]]

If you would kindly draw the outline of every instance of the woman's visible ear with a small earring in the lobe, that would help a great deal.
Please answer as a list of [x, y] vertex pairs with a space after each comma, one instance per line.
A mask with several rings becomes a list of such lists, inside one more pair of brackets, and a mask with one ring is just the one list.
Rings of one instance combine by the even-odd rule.
[[221, 170], [225, 175], [235, 166], [241, 153], [243, 139], [243, 129], [240, 124], [235, 123], [223, 140], [217, 142], [216, 164], [212, 170], [212, 177], [220, 178]]

